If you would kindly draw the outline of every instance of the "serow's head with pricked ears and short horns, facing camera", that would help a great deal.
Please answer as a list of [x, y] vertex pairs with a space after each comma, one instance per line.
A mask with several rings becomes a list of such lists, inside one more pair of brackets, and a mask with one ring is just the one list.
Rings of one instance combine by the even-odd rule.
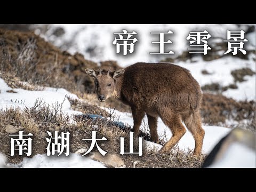
[[98, 100], [104, 102], [111, 95], [115, 94], [116, 91], [116, 79], [119, 78], [124, 73], [124, 69], [119, 69], [115, 71], [108, 70], [96, 71], [94, 69], [85, 69], [85, 72], [94, 78], [94, 89], [98, 95]]

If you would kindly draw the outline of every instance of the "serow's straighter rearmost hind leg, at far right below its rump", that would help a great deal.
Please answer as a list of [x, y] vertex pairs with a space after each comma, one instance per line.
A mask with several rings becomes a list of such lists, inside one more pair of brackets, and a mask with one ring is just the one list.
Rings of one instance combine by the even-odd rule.
[[199, 111], [194, 111], [193, 114], [183, 116], [183, 121], [195, 139], [194, 154], [200, 155], [204, 140], [204, 130], [202, 128]]

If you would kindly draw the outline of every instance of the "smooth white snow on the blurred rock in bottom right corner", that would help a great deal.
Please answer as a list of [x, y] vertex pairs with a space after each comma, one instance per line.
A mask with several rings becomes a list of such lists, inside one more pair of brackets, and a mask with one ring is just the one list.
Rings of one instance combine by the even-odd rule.
[[222, 158], [208, 168], [256, 168], [255, 150], [235, 142], [231, 144]]

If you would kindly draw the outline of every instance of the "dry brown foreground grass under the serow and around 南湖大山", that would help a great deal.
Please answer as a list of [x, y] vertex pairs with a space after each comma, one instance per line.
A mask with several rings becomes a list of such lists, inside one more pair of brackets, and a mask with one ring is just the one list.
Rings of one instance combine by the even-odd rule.
[[[73, 107], [77, 109], [86, 108], [85, 102], [74, 101]], [[83, 106], [84, 105], [84, 106]], [[90, 111], [92, 109], [92, 111]], [[86, 108], [87, 113], [94, 112], [95, 108]], [[112, 114], [104, 114], [106, 118], [91, 119], [86, 115], [74, 116], [74, 123], [69, 123], [69, 117], [62, 113], [61, 103], [49, 106], [45, 105], [41, 100], [37, 100], [35, 106], [32, 108], [25, 108], [20, 110], [19, 108], [10, 108], [0, 111], [0, 153], [7, 156], [7, 160], [10, 163], [19, 163], [25, 156], [18, 156], [15, 154], [10, 157], [10, 137], [5, 132], [5, 126], [12, 124], [15, 127], [22, 127], [22, 131], [25, 133], [31, 132], [33, 136], [33, 152], [30, 157], [36, 154], [45, 154], [47, 142], [45, 138], [41, 137], [40, 132], [46, 131], [63, 131], [70, 132], [70, 152], [75, 153], [81, 147], [90, 146], [90, 141], [83, 141], [82, 139], [91, 138], [92, 131], [97, 131], [97, 138], [106, 137], [107, 141], [99, 141], [99, 146], [108, 153], [119, 154], [120, 152], [120, 138], [127, 138], [124, 143], [125, 151], [129, 151], [129, 131], [131, 127], [122, 127], [122, 129], [115, 123]], [[145, 132], [140, 133], [141, 137], [150, 139], [149, 134]], [[138, 150], [136, 143], [137, 139], [134, 139], [134, 150]], [[163, 141], [163, 140], [162, 140]], [[103, 146], [102, 146], [103, 145]], [[97, 151], [95, 147], [93, 151]], [[169, 154], [155, 153], [153, 151], [143, 150], [143, 155], [123, 155], [121, 156], [125, 162], [126, 167], [133, 167], [133, 162], [137, 162], [135, 167], [200, 167], [202, 165], [204, 155], [196, 157], [193, 156], [191, 150], [183, 151], [175, 149]]]

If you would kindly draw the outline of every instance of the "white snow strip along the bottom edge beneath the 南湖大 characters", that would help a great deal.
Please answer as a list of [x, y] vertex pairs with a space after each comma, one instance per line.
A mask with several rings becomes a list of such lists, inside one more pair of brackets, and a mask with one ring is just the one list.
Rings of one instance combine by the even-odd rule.
[[32, 158], [23, 158], [19, 164], [7, 165], [16, 168], [105, 168], [102, 163], [78, 154], [59, 157], [37, 154]]

